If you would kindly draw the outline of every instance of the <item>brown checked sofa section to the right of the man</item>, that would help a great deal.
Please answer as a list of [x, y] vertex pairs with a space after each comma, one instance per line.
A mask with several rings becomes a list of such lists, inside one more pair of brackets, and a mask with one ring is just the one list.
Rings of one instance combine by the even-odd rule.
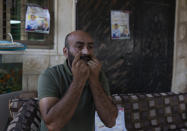
[[113, 101], [124, 107], [128, 131], [187, 130], [187, 93], [120, 94]]

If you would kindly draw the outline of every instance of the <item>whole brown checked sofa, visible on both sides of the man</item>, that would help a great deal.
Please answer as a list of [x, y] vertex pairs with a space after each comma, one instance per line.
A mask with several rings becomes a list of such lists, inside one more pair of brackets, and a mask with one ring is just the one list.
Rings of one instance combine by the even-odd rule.
[[[112, 99], [124, 108], [128, 131], [187, 131], [187, 93], [114, 94]], [[9, 109], [7, 131], [39, 130], [37, 98], [11, 99]]]

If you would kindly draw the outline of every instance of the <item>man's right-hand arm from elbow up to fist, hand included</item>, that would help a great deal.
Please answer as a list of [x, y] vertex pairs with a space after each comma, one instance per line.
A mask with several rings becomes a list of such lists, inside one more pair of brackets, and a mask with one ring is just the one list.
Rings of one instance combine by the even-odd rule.
[[89, 82], [96, 110], [103, 123], [111, 128], [116, 122], [118, 114], [117, 107], [113, 104], [111, 97], [105, 93], [99, 82], [99, 72], [101, 69], [99, 61], [94, 58], [88, 65], [91, 70]]

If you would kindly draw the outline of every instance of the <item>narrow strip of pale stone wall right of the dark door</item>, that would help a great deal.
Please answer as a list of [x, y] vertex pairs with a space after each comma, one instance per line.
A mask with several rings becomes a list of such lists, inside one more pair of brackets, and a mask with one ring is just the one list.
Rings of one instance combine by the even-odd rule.
[[187, 92], [187, 0], [177, 0], [172, 91]]

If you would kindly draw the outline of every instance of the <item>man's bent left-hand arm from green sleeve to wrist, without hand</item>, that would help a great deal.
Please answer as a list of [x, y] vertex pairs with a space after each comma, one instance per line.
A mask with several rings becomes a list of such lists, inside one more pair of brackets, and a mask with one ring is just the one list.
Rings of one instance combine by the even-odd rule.
[[68, 123], [79, 103], [82, 90], [83, 86], [72, 82], [62, 99], [46, 97], [40, 100], [40, 111], [49, 131], [60, 131]]

